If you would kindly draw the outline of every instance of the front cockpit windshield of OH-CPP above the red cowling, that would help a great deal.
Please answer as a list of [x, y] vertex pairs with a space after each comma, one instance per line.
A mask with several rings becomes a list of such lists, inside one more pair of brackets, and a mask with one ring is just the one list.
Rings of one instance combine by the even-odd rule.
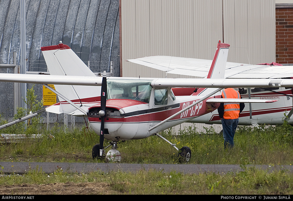
[[130, 99], [149, 103], [151, 80], [108, 79], [108, 99]]

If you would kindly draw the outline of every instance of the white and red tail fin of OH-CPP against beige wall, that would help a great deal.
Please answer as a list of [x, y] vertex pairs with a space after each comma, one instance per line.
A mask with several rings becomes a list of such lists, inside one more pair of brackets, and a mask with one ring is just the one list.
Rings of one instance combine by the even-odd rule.
[[[225, 70], [226, 63], [228, 57], [230, 45], [227, 43], [218, 42], [217, 50], [212, 61], [211, 68], [209, 69], [209, 74], [207, 75], [207, 79], [224, 79], [225, 78]], [[200, 88], [193, 95], [207, 95], [211, 91], [214, 91], [213, 88]]]

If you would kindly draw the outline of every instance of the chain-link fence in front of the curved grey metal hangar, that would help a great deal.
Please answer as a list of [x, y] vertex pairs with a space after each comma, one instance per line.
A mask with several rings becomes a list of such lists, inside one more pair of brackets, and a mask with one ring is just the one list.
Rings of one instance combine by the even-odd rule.
[[[81, 56], [82, 54], [88, 54], [88, 53], [82, 53], [82, 52], [75, 52], [76, 54], [79, 54]], [[13, 54], [9, 55], [8, 57], [8, 64], [0, 64], [0, 73], [19, 73], [19, 66], [16, 65], [17, 56], [16, 52], [13, 52]], [[107, 76], [113, 76], [113, 61], [88, 61], [85, 62], [85, 64], [88, 66], [88, 68], [91, 69], [91, 71], [95, 72], [96, 75], [103, 74], [102, 72], [98, 72], [100, 69], [106, 69], [107, 70]], [[10, 67], [11, 65], [14, 65], [15, 67]], [[102, 67], [102, 68], [101, 68]], [[47, 65], [45, 60], [27, 60], [27, 73], [30, 74], [39, 74], [39, 73], [45, 73], [47, 74]], [[37, 70], [37, 71], [36, 71]], [[0, 82], [0, 115], [1, 120], [6, 120], [8, 122], [11, 122], [13, 120], [14, 115], [16, 114], [16, 107], [20, 101], [21, 92], [16, 87], [19, 85], [16, 85], [12, 82]], [[42, 101], [43, 98], [43, 87], [42, 84], [26, 84], [26, 88], [30, 89], [33, 86], [35, 95], [37, 96], [36, 101]], [[17, 100], [16, 100], [17, 99]], [[57, 103], [59, 102], [58, 96], [57, 96]], [[45, 106], [44, 106], [45, 108]], [[84, 117], [76, 117], [72, 115], [67, 114], [54, 114], [54, 113], [48, 113], [44, 112], [40, 114], [41, 121], [44, 124], [47, 124], [47, 128], [50, 128], [54, 124], [62, 124], [65, 128], [75, 128], [75, 127], [82, 127], [84, 125], [88, 125], [87, 118]]]

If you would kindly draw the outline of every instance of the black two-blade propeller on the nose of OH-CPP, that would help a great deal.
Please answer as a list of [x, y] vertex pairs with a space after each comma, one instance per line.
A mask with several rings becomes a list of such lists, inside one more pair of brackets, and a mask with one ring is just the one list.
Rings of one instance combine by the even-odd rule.
[[99, 111], [99, 115], [101, 117], [100, 156], [102, 156], [103, 148], [104, 148], [104, 124], [105, 124], [105, 116], [106, 116], [106, 101], [107, 101], [107, 78], [106, 78], [106, 71], [104, 71], [102, 87], [101, 87], [101, 109]]

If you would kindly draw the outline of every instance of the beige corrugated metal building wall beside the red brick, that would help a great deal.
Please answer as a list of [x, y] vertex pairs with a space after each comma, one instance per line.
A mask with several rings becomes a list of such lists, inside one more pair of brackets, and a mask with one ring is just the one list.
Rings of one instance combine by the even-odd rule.
[[126, 77], [166, 76], [127, 59], [154, 55], [212, 59], [217, 40], [231, 45], [230, 62], [275, 61], [275, 0], [127, 0], [121, 1], [121, 24]]

